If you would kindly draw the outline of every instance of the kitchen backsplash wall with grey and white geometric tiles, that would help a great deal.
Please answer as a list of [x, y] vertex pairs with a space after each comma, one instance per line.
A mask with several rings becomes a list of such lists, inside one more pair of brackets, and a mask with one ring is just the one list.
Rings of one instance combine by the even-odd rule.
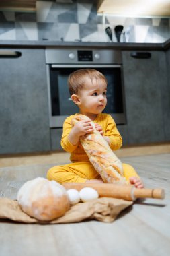
[[36, 13], [0, 11], [0, 40], [50, 40], [109, 42], [105, 27], [124, 26], [126, 42], [165, 42], [170, 38], [170, 18], [115, 18], [97, 16], [95, 1], [73, 3], [37, 1]]

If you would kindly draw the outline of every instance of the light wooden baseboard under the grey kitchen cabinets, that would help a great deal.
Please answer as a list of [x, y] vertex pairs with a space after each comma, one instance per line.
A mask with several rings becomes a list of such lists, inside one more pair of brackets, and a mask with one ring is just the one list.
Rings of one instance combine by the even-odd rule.
[[[170, 153], [170, 143], [123, 146], [120, 150], [116, 150], [116, 156], [118, 156], [118, 158], [168, 153]], [[1, 155], [0, 167], [32, 164], [60, 164], [60, 162], [69, 162], [69, 156], [69, 153], [63, 151]]]

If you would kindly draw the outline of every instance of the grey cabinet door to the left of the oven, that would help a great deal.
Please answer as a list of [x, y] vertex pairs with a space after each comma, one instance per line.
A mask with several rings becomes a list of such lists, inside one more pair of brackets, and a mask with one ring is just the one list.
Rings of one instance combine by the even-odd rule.
[[0, 50], [0, 153], [50, 150], [44, 50]]

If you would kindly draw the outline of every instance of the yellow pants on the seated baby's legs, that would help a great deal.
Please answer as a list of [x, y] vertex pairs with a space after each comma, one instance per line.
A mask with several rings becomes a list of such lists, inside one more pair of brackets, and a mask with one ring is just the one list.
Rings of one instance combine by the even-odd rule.
[[[129, 164], [122, 164], [124, 177], [127, 181], [132, 176], [138, 177], [138, 174]], [[98, 172], [93, 168], [91, 162], [73, 162], [62, 166], [54, 166], [48, 170], [47, 179], [57, 181], [58, 183], [77, 182], [85, 183], [87, 179], [101, 179]]]

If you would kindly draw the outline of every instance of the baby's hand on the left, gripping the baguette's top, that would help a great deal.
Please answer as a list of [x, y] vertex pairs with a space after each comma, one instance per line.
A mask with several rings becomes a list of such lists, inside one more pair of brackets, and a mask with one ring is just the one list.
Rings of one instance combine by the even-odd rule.
[[90, 121], [82, 120], [77, 123], [75, 123], [73, 127], [73, 133], [77, 136], [80, 137], [82, 135], [85, 135], [86, 133], [91, 133], [93, 131], [93, 126]]

